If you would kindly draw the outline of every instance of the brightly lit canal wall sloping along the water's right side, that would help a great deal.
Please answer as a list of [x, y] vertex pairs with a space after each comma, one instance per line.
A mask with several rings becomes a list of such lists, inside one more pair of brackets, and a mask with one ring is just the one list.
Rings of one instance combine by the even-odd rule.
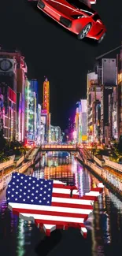
[[77, 157], [77, 160], [86, 167], [88, 167], [88, 169], [92, 170], [94, 174], [96, 174], [103, 183], [105, 182], [105, 184], [108, 184], [114, 192], [122, 196], [122, 180], [120, 178], [114, 176], [112, 173], [109, 173], [108, 170], [102, 169], [101, 167], [87, 159], [83, 161], [79, 157]]

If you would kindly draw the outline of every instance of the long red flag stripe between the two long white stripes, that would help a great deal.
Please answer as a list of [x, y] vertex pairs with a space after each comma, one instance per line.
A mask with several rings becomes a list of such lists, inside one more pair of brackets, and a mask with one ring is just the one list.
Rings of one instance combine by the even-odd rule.
[[85, 219], [88, 216], [88, 214], [82, 214], [82, 213], [62, 213], [62, 212], [54, 212], [54, 211], [46, 211], [46, 210], [30, 210], [30, 209], [13, 208], [13, 214], [17, 214], [17, 213], [30, 213], [30, 214], [62, 216], [62, 217], [79, 217], [79, 218], [85, 218]]

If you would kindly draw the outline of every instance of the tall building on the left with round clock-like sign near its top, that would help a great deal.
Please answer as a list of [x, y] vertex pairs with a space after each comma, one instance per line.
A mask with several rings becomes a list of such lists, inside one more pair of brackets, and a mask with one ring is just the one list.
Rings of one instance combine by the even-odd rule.
[[16, 94], [17, 140], [24, 142], [24, 83], [27, 65], [19, 51], [0, 50], [0, 81], [5, 82]]

